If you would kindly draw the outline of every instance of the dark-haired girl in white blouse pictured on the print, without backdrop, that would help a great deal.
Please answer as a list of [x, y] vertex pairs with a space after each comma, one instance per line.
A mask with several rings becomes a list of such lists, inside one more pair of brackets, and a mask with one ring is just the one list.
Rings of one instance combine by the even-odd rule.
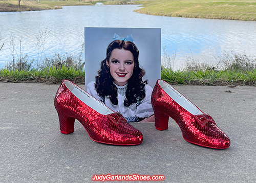
[[[131, 35], [130, 35], [131, 36]], [[123, 115], [127, 122], [154, 122], [152, 87], [142, 77], [139, 51], [132, 40], [114, 40], [101, 61], [95, 82], [87, 91], [106, 106]]]

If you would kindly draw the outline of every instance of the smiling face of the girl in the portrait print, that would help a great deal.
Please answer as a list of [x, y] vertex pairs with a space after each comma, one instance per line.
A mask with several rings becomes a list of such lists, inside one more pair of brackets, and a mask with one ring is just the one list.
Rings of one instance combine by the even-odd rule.
[[106, 65], [110, 67], [110, 74], [114, 78], [114, 83], [123, 86], [133, 75], [134, 56], [128, 50], [114, 49], [110, 60], [106, 61]]

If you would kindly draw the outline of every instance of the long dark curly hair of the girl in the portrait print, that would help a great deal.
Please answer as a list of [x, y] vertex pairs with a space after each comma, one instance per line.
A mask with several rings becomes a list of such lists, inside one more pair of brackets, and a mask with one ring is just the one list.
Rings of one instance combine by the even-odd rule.
[[126, 89], [126, 99], [123, 103], [124, 106], [129, 107], [131, 104], [136, 103], [138, 100], [142, 100], [145, 97], [145, 84], [146, 81], [142, 81], [142, 77], [145, 75], [145, 71], [139, 67], [139, 50], [136, 45], [131, 41], [114, 40], [106, 49], [106, 58], [100, 63], [100, 70], [98, 76], [95, 77], [95, 89], [100, 97], [103, 99], [105, 96], [110, 96], [110, 100], [114, 105], [118, 104], [117, 100], [117, 87], [113, 84], [114, 78], [110, 74], [110, 68], [106, 65], [109, 62], [111, 53], [114, 49], [124, 49], [132, 52], [134, 56], [134, 70], [133, 75], [128, 80]]

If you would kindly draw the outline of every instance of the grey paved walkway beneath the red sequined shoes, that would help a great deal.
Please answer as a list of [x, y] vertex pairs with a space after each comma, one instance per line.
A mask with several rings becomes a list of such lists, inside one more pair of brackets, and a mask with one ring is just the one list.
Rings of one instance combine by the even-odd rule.
[[53, 105], [58, 86], [0, 83], [0, 182], [84, 183], [94, 174], [256, 182], [256, 87], [175, 86], [229, 136], [230, 148], [216, 150], [186, 142], [173, 120], [164, 131], [154, 123], [133, 123], [144, 135], [138, 146], [93, 142], [77, 121], [74, 133], [62, 134]]

